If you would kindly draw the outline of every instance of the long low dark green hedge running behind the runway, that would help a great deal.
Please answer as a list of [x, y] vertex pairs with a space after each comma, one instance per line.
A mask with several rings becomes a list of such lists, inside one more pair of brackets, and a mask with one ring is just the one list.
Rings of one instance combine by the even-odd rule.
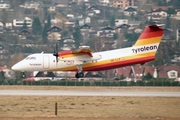
[[158, 79], [158, 80], [141, 80], [141, 81], [77, 81], [77, 80], [60, 80], [60, 81], [20, 81], [20, 80], [4, 80], [0, 81], [0, 85], [32, 85], [32, 86], [180, 86], [179, 81]]

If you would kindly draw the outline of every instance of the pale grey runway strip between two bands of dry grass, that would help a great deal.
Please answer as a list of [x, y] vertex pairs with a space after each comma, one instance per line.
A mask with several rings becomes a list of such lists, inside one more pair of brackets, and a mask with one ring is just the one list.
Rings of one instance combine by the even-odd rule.
[[130, 96], [180, 97], [180, 92], [150, 91], [78, 91], [78, 90], [0, 90], [0, 96]]

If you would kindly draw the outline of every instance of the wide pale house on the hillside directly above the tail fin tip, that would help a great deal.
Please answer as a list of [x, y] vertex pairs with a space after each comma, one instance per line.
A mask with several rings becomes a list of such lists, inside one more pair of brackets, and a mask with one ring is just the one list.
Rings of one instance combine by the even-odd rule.
[[167, 12], [162, 10], [162, 9], [158, 9], [152, 12], [147, 13], [147, 18], [150, 20], [160, 20], [160, 19], [166, 19], [166, 17], [168, 16]]

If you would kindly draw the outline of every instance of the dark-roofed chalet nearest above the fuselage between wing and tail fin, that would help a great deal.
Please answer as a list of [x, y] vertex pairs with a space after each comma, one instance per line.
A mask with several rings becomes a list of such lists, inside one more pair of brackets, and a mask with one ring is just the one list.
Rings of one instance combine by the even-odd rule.
[[98, 37], [108, 37], [108, 38], [113, 38], [113, 35], [115, 33], [115, 30], [111, 27], [104, 27], [97, 31], [97, 36]]

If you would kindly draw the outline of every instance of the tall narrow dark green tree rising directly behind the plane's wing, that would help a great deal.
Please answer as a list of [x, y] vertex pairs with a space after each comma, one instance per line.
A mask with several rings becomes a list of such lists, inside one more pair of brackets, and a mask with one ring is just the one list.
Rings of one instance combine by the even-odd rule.
[[78, 24], [78, 21], [75, 23], [75, 27], [73, 29], [73, 37], [76, 41], [76, 47], [80, 46], [82, 35], [81, 35], [80, 26]]

